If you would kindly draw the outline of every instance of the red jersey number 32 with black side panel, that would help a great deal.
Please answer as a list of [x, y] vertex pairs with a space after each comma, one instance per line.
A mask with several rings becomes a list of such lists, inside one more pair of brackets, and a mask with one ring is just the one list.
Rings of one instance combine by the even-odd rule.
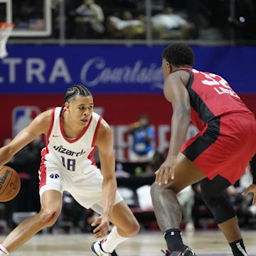
[[240, 100], [228, 82], [219, 75], [193, 68], [179, 68], [190, 74], [186, 85], [191, 103], [191, 121], [201, 131], [203, 126], [215, 119], [234, 112], [254, 114]]

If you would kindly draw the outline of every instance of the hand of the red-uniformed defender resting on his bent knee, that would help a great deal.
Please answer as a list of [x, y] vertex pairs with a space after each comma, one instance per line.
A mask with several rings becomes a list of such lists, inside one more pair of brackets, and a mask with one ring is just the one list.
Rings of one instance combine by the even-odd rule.
[[156, 184], [159, 186], [161, 185], [166, 185], [169, 181], [170, 178], [171, 180], [174, 179], [174, 167], [176, 166], [177, 159], [171, 158], [171, 159], [166, 159], [163, 164], [161, 164], [160, 168], [155, 172], [156, 174]]

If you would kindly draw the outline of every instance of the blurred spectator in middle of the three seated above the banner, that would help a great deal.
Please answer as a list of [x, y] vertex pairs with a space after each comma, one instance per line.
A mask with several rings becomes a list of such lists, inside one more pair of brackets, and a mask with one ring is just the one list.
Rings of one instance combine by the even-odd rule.
[[145, 38], [144, 16], [140, 14], [134, 18], [130, 11], [124, 11], [122, 18], [109, 16], [107, 33], [111, 38]]

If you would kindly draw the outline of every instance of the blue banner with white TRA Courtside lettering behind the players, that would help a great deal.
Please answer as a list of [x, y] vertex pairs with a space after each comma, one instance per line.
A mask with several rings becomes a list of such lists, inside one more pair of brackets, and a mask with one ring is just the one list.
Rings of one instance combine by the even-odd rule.
[[[192, 46], [194, 68], [223, 76], [238, 93], [256, 93], [250, 46]], [[164, 46], [8, 46], [0, 93], [63, 93], [82, 84], [96, 93], [161, 92]]]

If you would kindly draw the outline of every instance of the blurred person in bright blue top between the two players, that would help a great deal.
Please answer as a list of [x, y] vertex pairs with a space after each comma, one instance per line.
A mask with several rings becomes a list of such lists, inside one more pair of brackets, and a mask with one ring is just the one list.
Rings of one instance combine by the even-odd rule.
[[129, 151], [131, 162], [149, 162], [154, 156], [154, 129], [149, 123], [146, 114], [139, 116], [137, 122], [129, 124], [128, 131], [132, 134], [132, 149]]

